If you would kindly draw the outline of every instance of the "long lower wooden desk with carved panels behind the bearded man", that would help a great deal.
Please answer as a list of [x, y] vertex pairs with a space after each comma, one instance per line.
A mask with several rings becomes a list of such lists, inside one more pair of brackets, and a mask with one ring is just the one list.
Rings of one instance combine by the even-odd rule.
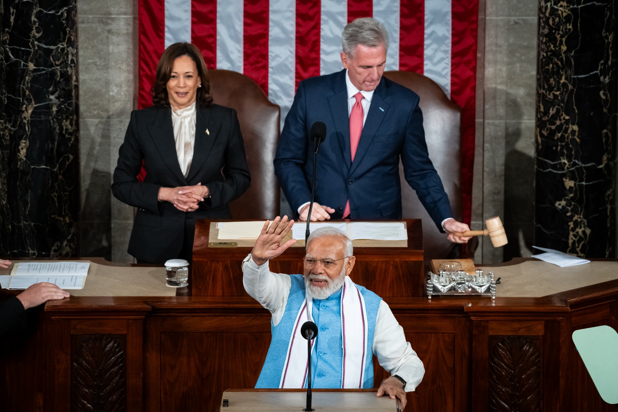
[[[595, 275], [594, 263], [580, 266], [582, 278]], [[599, 397], [570, 335], [618, 329], [618, 280], [575, 286], [495, 301], [385, 298], [425, 364], [409, 410], [502, 411], [502, 401], [517, 400], [531, 411], [617, 411]], [[0, 343], [4, 410], [216, 411], [224, 390], [255, 385], [271, 329], [252, 298], [83, 292], [35, 309], [28, 330]], [[374, 364], [377, 387], [387, 374]]]

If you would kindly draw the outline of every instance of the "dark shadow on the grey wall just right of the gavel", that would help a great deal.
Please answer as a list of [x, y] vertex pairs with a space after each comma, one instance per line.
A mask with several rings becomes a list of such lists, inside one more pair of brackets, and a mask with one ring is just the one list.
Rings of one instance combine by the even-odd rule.
[[504, 261], [534, 253], [535, 136], [534, 123], [522, 121], [522, 107], [506, 93], [504, 144], [504, 230], [509, 243]]

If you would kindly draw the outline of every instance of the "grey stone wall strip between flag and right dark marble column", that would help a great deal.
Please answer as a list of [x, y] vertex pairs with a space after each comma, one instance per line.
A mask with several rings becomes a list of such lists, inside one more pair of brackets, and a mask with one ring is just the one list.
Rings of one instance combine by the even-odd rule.
[[534, 237], [536, 0], [480, 0], [472, 229], [500, 216], [509, 238], [480, 238], [477, 263], [530, 256]]

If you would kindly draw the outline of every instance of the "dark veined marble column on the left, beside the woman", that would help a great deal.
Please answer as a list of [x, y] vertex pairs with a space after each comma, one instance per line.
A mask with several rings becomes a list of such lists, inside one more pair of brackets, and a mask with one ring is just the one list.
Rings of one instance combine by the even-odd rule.
[[0, 1], [0, 256], [75, 256], [75, 0]]

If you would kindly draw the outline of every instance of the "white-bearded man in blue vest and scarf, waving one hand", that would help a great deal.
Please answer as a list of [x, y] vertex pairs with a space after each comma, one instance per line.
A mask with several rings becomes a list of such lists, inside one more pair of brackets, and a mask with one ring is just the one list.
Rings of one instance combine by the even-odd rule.
[[311, 347], [317, 354], [311, 357], [311, 387], [371, 388], [376, 355], [391, 373], [378, 397], [397, 397], [405, 406], [405, 392], [415, 390], [425, 369], [388, 305], [350, 280], [352, 241], [332, 227], [313, 230], [303, 275], [276, 274], [268, 259], [294, 245], [295, 239], [281, 244], [294, 221], [284, 216], [269, 223], [242, 263], [245, 290], [273, 314], [273, 337], [255, 387], [306, 387], [307, 347], [298, 326], [313, 321], [320, 332]]

